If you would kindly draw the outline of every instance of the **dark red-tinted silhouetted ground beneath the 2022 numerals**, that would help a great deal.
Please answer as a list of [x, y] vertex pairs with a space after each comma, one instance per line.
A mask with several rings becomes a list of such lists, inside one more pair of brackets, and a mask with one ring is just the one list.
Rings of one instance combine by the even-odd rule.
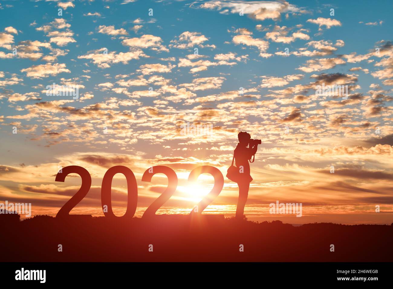
[[[9, 256], [3, 261], [393, 261], [389, 225], [292, 226], [209, 215], [130, 221], [78, 215], [19, 221], [2, 216], [0, 246]], [[239, 251], [241, 244], [244, 252]]]

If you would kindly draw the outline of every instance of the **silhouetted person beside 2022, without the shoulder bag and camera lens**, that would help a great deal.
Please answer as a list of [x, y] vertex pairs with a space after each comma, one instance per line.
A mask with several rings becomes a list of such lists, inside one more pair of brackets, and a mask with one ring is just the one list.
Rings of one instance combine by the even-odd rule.
[[237, 202], [236, 207], [236, 219], [242, 220], [244, 219], [243, 213], [248, 197], [248, 189], [250, 188], [250, 182], [252, 181], [252, 177], [250, 175], [250, 164], [248, 164], [248, 160], [251, 160], [252, 156], [257, 152], [258, 144], [252, 143], [248, 145], [251, 136], [249, 133], [243, 131], [237, 135], [237, 138], [239, 139], [239, 143], [237, 144], [233, 154], [235, 156], [236, 166], [241, 173], [241, 179], [237, 183], [239, 186], [239, 201]]

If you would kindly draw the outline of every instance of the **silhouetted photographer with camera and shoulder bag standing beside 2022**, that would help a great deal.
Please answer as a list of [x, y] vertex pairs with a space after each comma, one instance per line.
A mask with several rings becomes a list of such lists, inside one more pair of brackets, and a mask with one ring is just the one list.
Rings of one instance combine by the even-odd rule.
[[[246, 205], [248, 190], [250, 188], [250, 182], [252, 181], [250, 164], [248, 164], [248, 162], [254, 162], [255, 153], [257, 152], [258, 145], [261, 144], [261, 140], [253, 140], [249, 133], [243, 131], [237, 135], [237, 138], [239, 139], [239, 143], [235, 151], [233, 151], [232, 164], [228, 169], [226, 177], [233, 182], [237, 182], [239, 186], [239, 201], [236, 207], [236, 219], [242, 220], [244, 219], [244, 206]], [[234, 161], [236, 166], [233, 166]]]

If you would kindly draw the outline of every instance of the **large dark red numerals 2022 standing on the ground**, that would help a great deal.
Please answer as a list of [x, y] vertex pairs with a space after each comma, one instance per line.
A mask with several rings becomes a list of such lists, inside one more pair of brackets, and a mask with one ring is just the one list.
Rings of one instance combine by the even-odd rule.
[[[67, 166], [62, 168], [62, 172], [57, 173], [55, 181], [64, 182], [66, 176], [70, 173], [77, 173], [82, 178], [81, 188], [69, 199], [64, 206], [59, 210], [56, 217], [67, 217], [70, 211], [86, 196], [88, 191], [90, 190], [90, 186], [92, 184], [92, 177], [90, 173], [80, 166]], [[112, 210], [112, 199], [111, 199], [111, 190], [112, 190], [112, 179], [114, 175], [117, 173], [121, 173], [125, 176], [127, 180], [127, 210], [125, 214], [121, 217], [116, 216]], [[150, 182], [153, 175], [156, 173], [163, 173], [168, 178], [168, 186], [163, 191], [163, 193], [158, 197], [152, 204], [147, 208], [147, 210], [143, 213], [142, 218], [152, 217], [156, 214], [157, 210], [169, 200], [169, 198], [176, 191], [178, 180], [177, 175], [173, 171], [173, 169], [166, 166], [153, 166], [149, 168], [143, 173], [142, 181]], [[200, 166], [191, 171], [188, 176], [188, 180], [191, 182], [195, 182], [199, 175], [202, 173], [209, 173], [214, 177], [214, 186], [213, 189], [197, 204], [198, 212], [191, 210], [190, 214], [201, 214], [204, 209], [213, 200], [219, 195], [222, 188], [224, 187], [224, 177], [219, 169], [212, 166]], [[107, 170], [102, 180], [101, 185], [101, 207], [104, 205], [108, 206], [107, 212], [104, 210], [105, 217], [108, 218], [127, 218], [132, 219], [134, 217], [136, 206], [138, 203], [138, 187], [136, 184], [136, 179], [134, 173], [125, 166], [114, 166]]]

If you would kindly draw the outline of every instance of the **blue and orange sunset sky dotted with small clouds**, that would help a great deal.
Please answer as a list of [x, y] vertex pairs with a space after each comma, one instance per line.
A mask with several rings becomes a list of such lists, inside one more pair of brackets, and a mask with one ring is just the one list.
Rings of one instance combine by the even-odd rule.
[[[140, 217], [167, 186], [141, 177], [161, 165], [179, 183], [157, 213], [188, 214], [213, 186], [188, 175], [208, 165], [225, 183], [204, 212], [234, 216], [237, 184], [225, 175], [247, 131], [262, 140], [249, 220], [392, 223], [393, 3], [312, 3], [0, 1], [0, 202], [54, 216], [81, 184], [55, 182], [58, 168], [76, 165], [92, 187], [71, 213], [103, 215], [102, 178], [123, 165]], [[47, 96], [52, 83], [79, 85], [79, 98]], [[316, 94], [322, 84], [348, 85], [347, 99]], [[213, 131], [184, 135], [187, 123]], [[277, 200], [302, 203], [303, 216], [269, 214]], [[117, 215], [126, 202], [117, 174]]]

